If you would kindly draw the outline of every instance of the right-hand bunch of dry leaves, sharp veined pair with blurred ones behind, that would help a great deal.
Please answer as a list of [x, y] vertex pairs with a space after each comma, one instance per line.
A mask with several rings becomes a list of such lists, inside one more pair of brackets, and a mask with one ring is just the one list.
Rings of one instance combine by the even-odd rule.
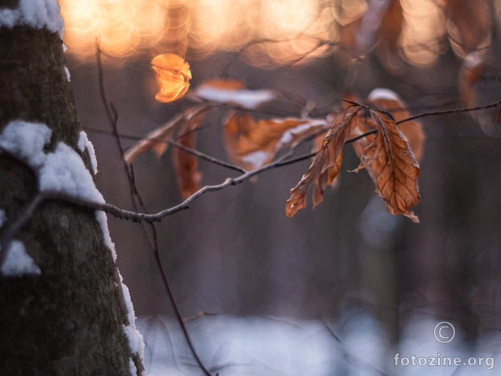
[[[369, 101], [383, 110], [395, 110], [395, 116], [399, 120], [410, 116], [400, 98], [389, 90], [374, 91]], [[286, 203], [286, 214], [292, 217], [299, 209], [306, 207], [307, 194], [313, 185], [314, 206], [323, 200], [325, 187], [335, 184], [339, 177], [343, 147], [350, 140], [361, 158], [355, 171], [367, 169], [388, 212], [394, 215], [404, 214], [418, 222], [418, 218], [409, 209], [421, 200], [417, 184], [420, 170], [409, 144], [412, 142], [421, 157], [424, 143], [421, 125], [416, 121], [401, 123], [410, 123], [402, 127], [407, 133], [408, 141], [389, 114], [358, 103], [360, 101], [354, 95], [345, 96], [345, 114], [331, 126], [312, 165], [299, 184], [291, 190], [291, 198]], [[359, 116], [360, 110], [366, 116]], [[318, 147], [319, 142], [320, 138], [315, 138], [314, 147]]]

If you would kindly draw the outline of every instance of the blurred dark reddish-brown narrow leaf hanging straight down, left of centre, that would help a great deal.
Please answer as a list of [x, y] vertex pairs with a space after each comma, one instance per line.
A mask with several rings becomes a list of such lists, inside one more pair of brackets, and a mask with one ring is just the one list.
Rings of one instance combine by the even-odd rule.
[[[196, 132], [185, 134], [178, 139], [178, 142], [188, 148], [195, 149]], [[187, 199], [193, 193], [200, 190], [202, 173], [197, 169], [198, 160], [195, 155], [175, 148], [172, 163], [176, 172], [179, 193], [183, 199]]]

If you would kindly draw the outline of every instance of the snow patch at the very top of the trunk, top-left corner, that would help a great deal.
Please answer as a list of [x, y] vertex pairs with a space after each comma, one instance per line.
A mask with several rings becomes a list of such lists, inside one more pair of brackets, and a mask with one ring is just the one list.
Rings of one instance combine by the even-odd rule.
[[17, 9], [0, 10], [0, 27], [25, 25], [47, 29], [63, 39], [64, 21], [57, 0], [21, 0]]

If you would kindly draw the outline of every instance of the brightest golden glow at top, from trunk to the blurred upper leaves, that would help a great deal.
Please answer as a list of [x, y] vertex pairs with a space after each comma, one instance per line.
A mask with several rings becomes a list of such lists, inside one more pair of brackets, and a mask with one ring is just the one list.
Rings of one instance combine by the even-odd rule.
[[255, 65], [303, 62], [335, 48], [339, 24], [355, 19], [366, 0], [60, 0], [68, 52], [94, 59], [146, 52], [196, 57], [241, 51]]

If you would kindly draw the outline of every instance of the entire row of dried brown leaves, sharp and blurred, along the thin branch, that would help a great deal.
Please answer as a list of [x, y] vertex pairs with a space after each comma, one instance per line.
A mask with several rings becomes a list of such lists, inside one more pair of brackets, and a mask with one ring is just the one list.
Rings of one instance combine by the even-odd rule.
[[[212, 94], [207, 98], [209, 91]], [[192, 92], [192, 98], [201, 92], [204, 94], [202, 104], [187, 108], [147, 135], [126, 153], [126, 162], [133, 162], [150, 149], [160, 156], [167, 150], [168, 143], [175, 144], [173, 164], [179, 190], [184, 198], [189, 197], [200, 189], [202, 177], [197, 157], [192, 153], [196, 149], [195, 131], [211, 108], [223, 104], [231, 107], [222, 121], [226, 152], [231, 162], [245, 171], [263, 168], [272, 163], [281, 150], [294, 150], [300, 143], [313, 140], [316, 155], [301, 181], [291, 190], [286, 203], [288, 216], [306, 207], [312, 186], [316, 206], [323, 200], [327, 185], [337, 184], [343, 148], [350, 143], [360, 157], [360, 165], [354, 171], [364, 168], [368, 171], [388, 212], [418, 221], [410, 208], [420, 201], [418, 161], [423, 154], [425, 137], [421, 124], [416, 121], [401, 122], [397, 126], [399, 121], [409, 118], [409, 113], [395, 93], [377, 89], [364, 105], [354, 95], [347, 95], [343, 107], [326, 118], [256, 120], [245, 110], [259, 107], [275, 99], [274, 96], [246, 90], [235, 81], [206, 83]]]

